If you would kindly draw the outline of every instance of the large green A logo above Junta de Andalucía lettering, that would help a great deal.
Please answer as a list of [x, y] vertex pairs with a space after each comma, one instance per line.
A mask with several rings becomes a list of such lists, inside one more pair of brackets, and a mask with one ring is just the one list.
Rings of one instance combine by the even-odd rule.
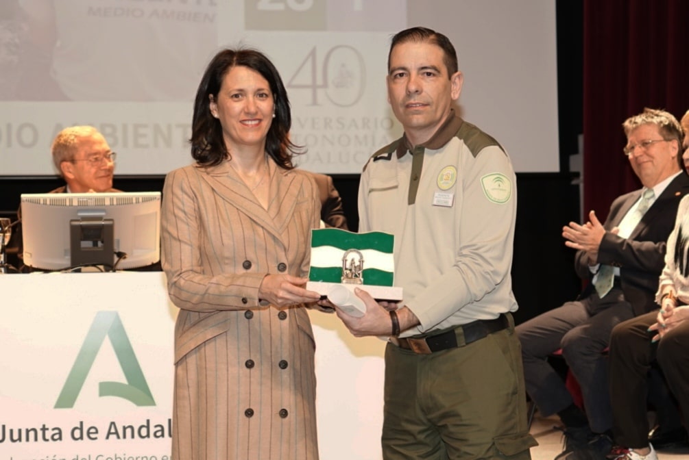
[[79, 354], [76, 355], [70, 375], [68, 375], [55, 402], [56, 409], [74, 407], [76, 397], [79, 396], [81, 387], [106, 336], [110, 337], [112, 348], [127, 378], [127, 383], [100, 382], [99, 396], [121, 397], [136, 404], [136, 406], [156, 405], [119, 314], [116, 311], [99, 311], [86, 334]]

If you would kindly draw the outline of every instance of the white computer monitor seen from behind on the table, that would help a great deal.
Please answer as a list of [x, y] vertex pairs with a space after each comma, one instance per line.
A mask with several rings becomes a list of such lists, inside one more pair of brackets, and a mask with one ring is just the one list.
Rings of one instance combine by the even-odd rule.
[[29, 267], [144, 267], [161, 256], [161, 193], [25, 193], [21, 226]]

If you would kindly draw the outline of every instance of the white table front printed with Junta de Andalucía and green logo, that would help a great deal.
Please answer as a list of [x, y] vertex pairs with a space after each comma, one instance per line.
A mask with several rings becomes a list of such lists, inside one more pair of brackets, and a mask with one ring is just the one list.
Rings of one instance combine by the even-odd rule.
[[[0, 460], [169, 459], [163, 273], [6, 274], [0, 293]], [[378, 460], [384, 342], [310, 314], [320, 457]]]

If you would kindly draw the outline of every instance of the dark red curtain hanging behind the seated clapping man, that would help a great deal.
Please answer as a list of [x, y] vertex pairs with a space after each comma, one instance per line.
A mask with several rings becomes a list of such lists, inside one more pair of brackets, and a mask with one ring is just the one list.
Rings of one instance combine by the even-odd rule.
[[584, 217], [641, 184], [621, 124], [644, 107], [689, 109], [689, 1], [584, 0]]

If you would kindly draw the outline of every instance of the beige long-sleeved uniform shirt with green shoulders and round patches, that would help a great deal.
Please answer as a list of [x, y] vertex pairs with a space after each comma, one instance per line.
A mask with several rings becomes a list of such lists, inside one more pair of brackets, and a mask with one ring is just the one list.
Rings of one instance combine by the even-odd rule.
[[491, 136], [451, 114], [433, 138], [402, 137], [362, 173], [359, 231], [395, 235], [395, 285], [413, 336], [515, 311], [515, 173]]

